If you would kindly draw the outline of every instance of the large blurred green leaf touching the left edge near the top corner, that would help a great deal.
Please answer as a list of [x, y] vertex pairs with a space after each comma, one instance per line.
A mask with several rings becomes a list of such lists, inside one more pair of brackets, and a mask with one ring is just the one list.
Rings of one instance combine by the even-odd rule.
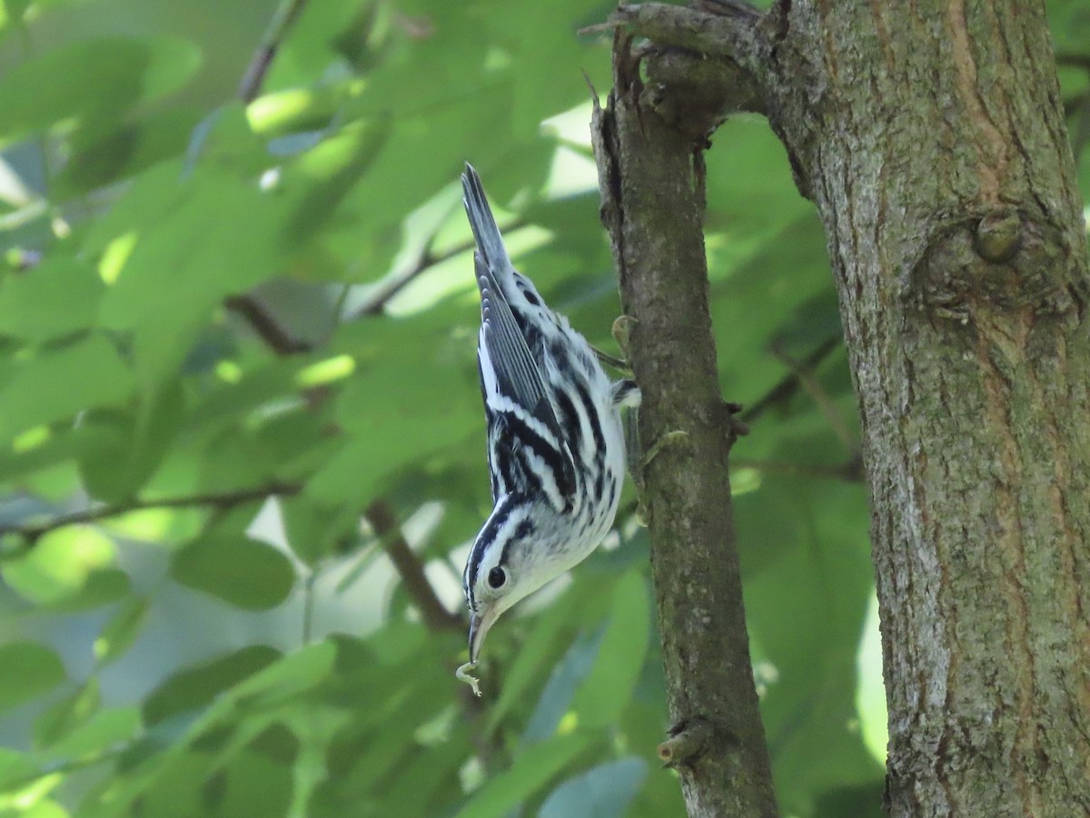
[[58, 48], [0, 76], [0, 145], [57, 122], [98, 124], [181, 87], [199, 51], [178, 37], [101, 37]]

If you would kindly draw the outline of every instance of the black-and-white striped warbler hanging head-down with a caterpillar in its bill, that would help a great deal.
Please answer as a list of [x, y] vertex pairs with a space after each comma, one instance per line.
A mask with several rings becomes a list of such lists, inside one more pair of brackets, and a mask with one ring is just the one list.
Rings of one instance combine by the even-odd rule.
[[511, 605], [584, 560], [613, 526], [625, 479], [620, 408], [632, 381], [613, 382], [586, 339], [511, 266], [484, 188], [462, 175], [473, 228], [481, 332], [477, 363], [488, 429], [493, 509], [465, 563], [470, 661]]

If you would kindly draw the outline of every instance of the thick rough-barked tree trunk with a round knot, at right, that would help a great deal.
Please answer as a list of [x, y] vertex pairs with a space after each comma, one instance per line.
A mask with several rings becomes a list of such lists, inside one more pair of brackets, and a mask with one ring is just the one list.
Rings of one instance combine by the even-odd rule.
[[1090, 282], [1043, 3], [784, 0], [726, 26], [659, 8], [618, 16], [735, 58], [825, 224], [891, 811], [1090, 814]]

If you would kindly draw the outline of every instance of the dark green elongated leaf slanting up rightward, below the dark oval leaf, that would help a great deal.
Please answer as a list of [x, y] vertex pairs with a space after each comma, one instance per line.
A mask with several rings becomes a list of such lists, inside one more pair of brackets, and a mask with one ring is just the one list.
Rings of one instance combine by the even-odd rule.
[[144, 721], [155, 725], [205, 707], [223, 690], [275, 662], [280, 651], [251, 645], [233, 653], [174, 673], [144, 700]]

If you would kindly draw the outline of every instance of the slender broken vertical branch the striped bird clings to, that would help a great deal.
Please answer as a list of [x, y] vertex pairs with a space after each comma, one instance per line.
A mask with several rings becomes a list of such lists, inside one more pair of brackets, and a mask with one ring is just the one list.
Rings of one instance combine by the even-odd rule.
[[628, 352], [643, 390], [642, 502], [671, 723], [659, 755], [690, 816], [774, 816], [727, 479], [736, 425], [707, 308], [703, 139], [694, 146], [656, 112], [623, 38], [614, 61], [593, 133], [621, 302], [637, 320]]

